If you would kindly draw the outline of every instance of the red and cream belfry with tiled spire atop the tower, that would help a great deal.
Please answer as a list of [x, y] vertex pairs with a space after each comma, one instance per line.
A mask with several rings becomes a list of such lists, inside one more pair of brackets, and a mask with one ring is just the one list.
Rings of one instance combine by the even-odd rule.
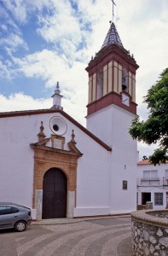
[[88, 115], [111, 104], [136, 113], [136, 69], [138, 65], [126, 50], [111, 23], [101, 50], [90, 61]]

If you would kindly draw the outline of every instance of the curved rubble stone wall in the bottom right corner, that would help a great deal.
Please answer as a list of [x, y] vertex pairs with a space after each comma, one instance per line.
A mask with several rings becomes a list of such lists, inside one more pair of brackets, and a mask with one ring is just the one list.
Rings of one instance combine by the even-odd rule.
[[168, 255], [168, 211], [142, 210], [131, 213], [134, 256]]

